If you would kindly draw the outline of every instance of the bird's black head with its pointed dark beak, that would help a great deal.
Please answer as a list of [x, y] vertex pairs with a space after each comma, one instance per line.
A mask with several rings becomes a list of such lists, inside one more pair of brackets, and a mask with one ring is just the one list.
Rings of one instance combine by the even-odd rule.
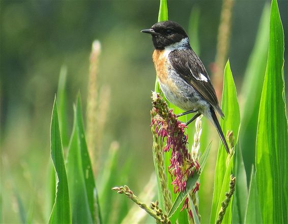
[[156, 49], [163, 50], [166, 46], [180, 43], [184, 39], [185, 41], [183, 44], [189, 46], [188, 36], [182, 26], [177, 22], [157, 22], [151, 27], [151, 29], [142, 30], [141, 32], [152, 35], [152, 41]]

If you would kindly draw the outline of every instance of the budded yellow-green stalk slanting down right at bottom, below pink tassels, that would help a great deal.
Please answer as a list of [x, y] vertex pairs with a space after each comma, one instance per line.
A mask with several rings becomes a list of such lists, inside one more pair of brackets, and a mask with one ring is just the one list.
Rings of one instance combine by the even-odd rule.
[[161, 224], [171, 224], [171, 221], [168, 219], [167, 214], [163, 213], [163, 210], [158, 207], [158, 202], [151, 203], [151, 208], [149, 208], [145, 203], [139, 201], [139, 199], [134, 195], [133, 191], [129, 189], [128, 186], [113, 187], [112, 190], [116, 190], [117, 193], [125, 194], [129, 199], [134, 203], [139, 205], [140, 208], [144, 209], [149, 215], [155, 218], [156, 223]]

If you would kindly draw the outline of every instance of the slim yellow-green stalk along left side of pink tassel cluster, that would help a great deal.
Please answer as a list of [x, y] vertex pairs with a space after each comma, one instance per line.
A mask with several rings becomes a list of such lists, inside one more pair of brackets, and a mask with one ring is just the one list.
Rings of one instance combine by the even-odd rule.
[[[151, 110], [151, 119], [153, 120], [154, 117], [157, 115], [155, 110]], [[165, 172], [164, 167], [164, 159], [163, 159], [163, 137], [158, 136], [156, 133], [156, 126], [154, 124], [151, 125], [151, 131], [153, 134], [153, 159], [154, 159], [154, 165], [155, 170], [157, 172], [158, 179], [160, 181], [160, 188], [161, 192], [160, 194], [163, 197], [163, 205], [165, 208], [165, 211], [168, 212], [170, 208], [172, 207], [172, 200], [171, 200], [171, 193], [168, 189], [168, 182], [167, 182], [167, 176]], [[161, 197], [160, 195], [160, 197]]]

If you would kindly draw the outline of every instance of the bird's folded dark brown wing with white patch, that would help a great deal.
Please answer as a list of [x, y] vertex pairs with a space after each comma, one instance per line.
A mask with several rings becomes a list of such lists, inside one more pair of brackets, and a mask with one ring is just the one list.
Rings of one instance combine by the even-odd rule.
[[207, 71], [194, 51], [192, 49], [174, 50], [169, 53], [168, 57], [179, 76], [210, 103], [221, 117], [224, 117]]

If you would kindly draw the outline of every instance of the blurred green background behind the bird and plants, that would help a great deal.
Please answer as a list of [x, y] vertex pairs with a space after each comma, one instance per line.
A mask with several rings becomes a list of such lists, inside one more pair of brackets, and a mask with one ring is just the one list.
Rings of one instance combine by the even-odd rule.
[[[239, 92], [265, 3], [235, 2], [228, 57]], [[70, 133], [72, 104], [79, 90], [83, 108], [86, 106], [89, 57], [95, 39], [102, 44], [97, 85], [108, 85], [111, 90], [102, 157], [110, 143], [118, 141], [119, 166], [129, 160], [131, 167], [128, 180], [119, 185], [129, 184], [135, 192], [141, 191], [154, 170], [150, 96], [155, 71], [151, 38], [140, 30], [157, 22], [159, 1], [0, 4], [2, 221], [20, 222], [15, 192], [24, 208], [34, 201], [36, 222], [46, 221], [41, 201], [46, 197], [50, 119], [60, 68], [68, 68]], [[278, 4], [287, 34], [288, 1]], [[221, 5], [221, 1], [168, 1], [169, 19], [179, 22], [186, 31], [192, 8], [200, 9], [200, 58], [208, 72], [215, 59]], [[288, 59], [287, 51], [284, 58]], [[287, 68], [286, 63], [284, 70]], [[217, 148], [218, 142], [213, 145]], [[100, 166], [103, 164], [104, 159]]]

